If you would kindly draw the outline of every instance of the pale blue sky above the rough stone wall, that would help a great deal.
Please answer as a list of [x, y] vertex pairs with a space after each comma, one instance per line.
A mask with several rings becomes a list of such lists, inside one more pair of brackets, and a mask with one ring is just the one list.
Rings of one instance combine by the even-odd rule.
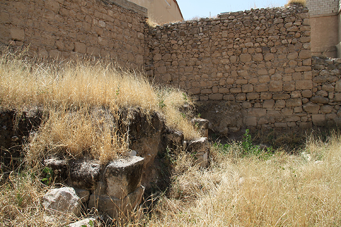
[[211, 17], [225, 12], [284, 6], [288, 0], [177, 0], [185, 20], [193, 17]]

